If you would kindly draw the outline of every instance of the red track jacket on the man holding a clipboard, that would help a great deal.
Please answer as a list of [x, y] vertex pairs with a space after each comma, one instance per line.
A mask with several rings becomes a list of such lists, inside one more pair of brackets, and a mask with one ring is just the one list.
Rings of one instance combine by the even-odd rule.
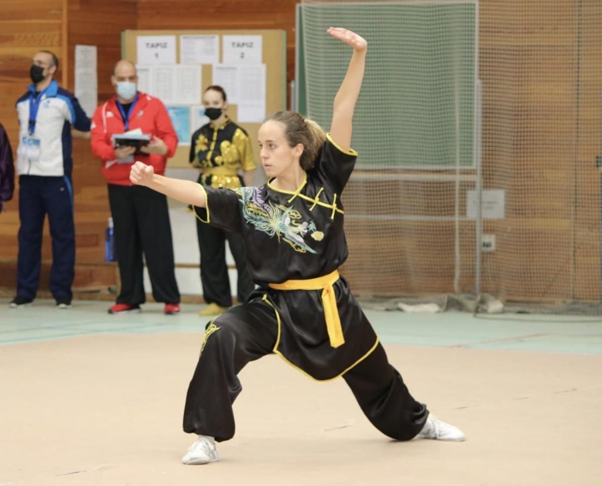
[[[101, 172], [108, 183], [131, 186], [129, 170], [132, 164], [119, 164], [116, 161], [111, 135], [125, 132], [123, 118], [113, 96], [94, 112], [92, 117], [92, 153], [101, 159]], [[173, 156], [178, 145], [178, 135], [173, 129], [167, 109], [158, 98], [138, 92], [138, 101], [129, 113], [129, 130], [140, 128], [143, 134], [161, 138], [167, 146], [166, 155], [135, 155], [135, 160], [152, 165], [155, 174], [163, 175], [167, 159]]]

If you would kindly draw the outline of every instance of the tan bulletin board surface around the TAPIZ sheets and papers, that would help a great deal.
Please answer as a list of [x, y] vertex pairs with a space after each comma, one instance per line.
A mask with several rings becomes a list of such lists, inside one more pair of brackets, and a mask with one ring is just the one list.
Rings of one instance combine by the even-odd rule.
[[[175, 35], [176, 37], [176, 63], [181, 61], [180, 36], [181, 35], [219, 35], [219, 62], [223, 59], [223, 35], [261, 35], [262, 53], [261, 62], [265, 64], [265, 115], [270, 115], [276, 111], [284, 110], [287, 107], [287, 41], [286, 32], [279, 29], [265, 30], [241, 30], [241, 29], [223, 29], [223, 30], [125, 30], [122, 32], [122, 58], [137, 64], [138, 61], [138, 36], [146, 35]], [[201, 86], [202, 93], [206, 87], [214, 84], [213, 65], [201, 64]], [[226, 94], [228, 91], [226, 90]], [[228, 110], [226, 114], [238, 123], [238, 105], [228, 100]], [[192, 122], [191, 122], [192, 123]], [[256, 140], [258, 139], [259, 126], [261, 121], [240, 123], [249, 134], [255, 163], [259, 164], [259, 149]], [[196, 131], [200, 126], [190, 127], [190, 132]], [[190, 146], [179, 145], [173, 158], [169, 159], [168, 167], [190, 167], [188, 156]]]

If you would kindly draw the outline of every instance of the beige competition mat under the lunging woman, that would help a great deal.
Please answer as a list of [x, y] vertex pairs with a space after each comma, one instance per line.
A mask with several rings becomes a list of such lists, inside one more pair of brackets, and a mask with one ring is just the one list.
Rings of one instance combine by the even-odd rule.
[[0, 347], [0, 485], [602, 484], [602, 355], [386, 345], [415, 398], [464, 443], [391, 441], [343, 380], [250, 363], [222, 461], [179, 462], [202, 334]]

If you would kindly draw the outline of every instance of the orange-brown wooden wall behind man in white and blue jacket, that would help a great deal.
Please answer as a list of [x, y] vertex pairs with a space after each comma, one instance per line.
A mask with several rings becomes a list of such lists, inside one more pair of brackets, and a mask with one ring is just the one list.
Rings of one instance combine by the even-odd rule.
[[[63, 5], [67, 5], [64, 10]], [[0, 19], [0, 123], [7, 128], [13, 152], [17, 146], [17, 119], [14, 102], [29, 81], [31, 56], [40, 49], [57, 54], [61, 69], [57, 81], [73, 91], [73, 63], [76, 44], [98, 46], [99, 100], [113, 93], [110, 75], [121, 53], [121, 31], [136, 26], [135, 0], [46, 0], [2, 2]], [[64, 43], [66, 42], [66, 48]], [[68, 57], [64, 54], [68, 53]], [[67, 75], [68, 76], [64, 76]], [[65, 84], [65, 79], [67, 83]], [[104, 230], [110, 214], [107, 189], [99, 162], [90, 153], [87, 140], [73, 141], [73, 188], [76, 229], [76, 271], [73, 288], [107, 288], [114, 285], [114, 265], [104, 265]], [[17, 184], [18, 186], [18, 184]], [[14, 291], [18, 218], [18, 189], [13, 201], [0, 215], [0, 287]], [[43, 271], [40, 291], [48, 291], [48, 267], [52, 259], [51, 239], [46, 221], [42, 243]]]

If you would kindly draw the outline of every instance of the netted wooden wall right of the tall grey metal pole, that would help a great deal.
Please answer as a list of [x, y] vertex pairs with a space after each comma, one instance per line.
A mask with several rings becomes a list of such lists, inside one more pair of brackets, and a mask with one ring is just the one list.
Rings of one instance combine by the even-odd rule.
[[506, 189], [507, 215], [485, 222], [497, 236], [483, 256], [485, 291], [600, 300], [600, 13], [587, 0], [480, 2], [484, 187]]

